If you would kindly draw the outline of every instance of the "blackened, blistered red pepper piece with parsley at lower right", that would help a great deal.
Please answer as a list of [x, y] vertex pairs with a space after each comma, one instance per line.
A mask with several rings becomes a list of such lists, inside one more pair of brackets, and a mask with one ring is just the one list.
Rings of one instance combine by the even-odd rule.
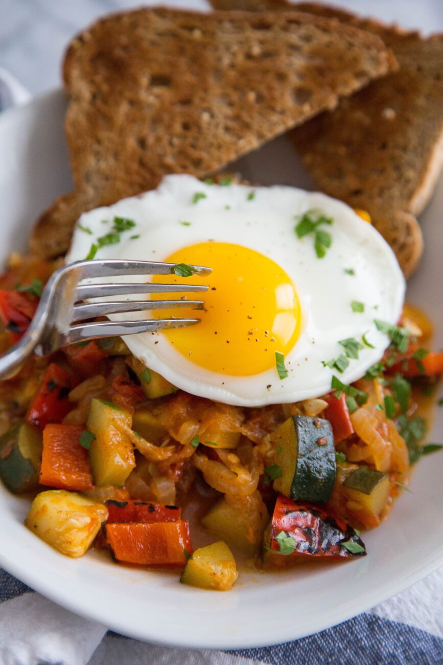
[[366, 554], [363, 541], [341, 519], [282, 495], [277, 499], [265, 545], [272, 557], [348, 558]]

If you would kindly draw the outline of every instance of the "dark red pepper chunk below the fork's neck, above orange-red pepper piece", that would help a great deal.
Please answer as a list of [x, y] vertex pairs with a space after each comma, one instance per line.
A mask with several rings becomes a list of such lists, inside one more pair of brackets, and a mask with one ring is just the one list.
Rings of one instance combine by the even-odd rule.
[[49, 422], [62, 422], [72, 409], [68, 393], [72, 388], [72, 377], [54, 362], [44, 372], [39, 392], [31, 402], [27, 421], [42, 431]]

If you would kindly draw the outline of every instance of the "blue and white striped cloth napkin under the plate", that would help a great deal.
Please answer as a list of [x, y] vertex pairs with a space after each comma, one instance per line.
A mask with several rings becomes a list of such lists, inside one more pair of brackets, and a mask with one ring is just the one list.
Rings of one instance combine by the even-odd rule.
[[[0, 68], [0, 110], [29, 99]], [[0, 570], [0, 665], [435, 665], [443, 663], [443, 568], [339, 626], [295, 642], [230, 652], [178, 650], [109, 632]]]

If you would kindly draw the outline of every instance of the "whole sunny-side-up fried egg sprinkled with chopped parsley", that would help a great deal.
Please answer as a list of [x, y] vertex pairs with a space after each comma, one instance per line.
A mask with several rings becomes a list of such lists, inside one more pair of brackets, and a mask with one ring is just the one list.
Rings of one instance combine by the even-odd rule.
[[[167, 176], [157, 190], [84, 213], [67, 261], [85, 259], [91, 245], [100, 259], [212, 268], [205, 276], [143, 278], [206, 284], [205, 309], [125, 315], [201, 321], [124, 340], [178, 388], [226, 404], [321, 396], [334, 374], [350, 384], [389, 344], [375, 321], [396, 324], [402, 311], [404, 278], [378, 231], [345, 203], [293, 187]], [[349, 354], [347, 340], [358, 342], [357, 352]]]

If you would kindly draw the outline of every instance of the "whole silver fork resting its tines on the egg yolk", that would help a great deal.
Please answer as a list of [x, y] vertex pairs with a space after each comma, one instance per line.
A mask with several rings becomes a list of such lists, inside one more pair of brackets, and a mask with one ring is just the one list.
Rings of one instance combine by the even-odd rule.
[[[114, 337], [137, 332], [160, 331], [199, 323], [200, 319], [141, 319], [140, 321], [92, 321], [108, 314], [124, 314], [153, 309], [192, 307], [203, 309], [200, 300], [108, 300], [85, 303], [100, 297], [130, 297], [135, 294], [189, 293], [207, 291], [197, 284], [93, 283], [79, 284], [84, 279], [127, 277], [128, 275], [172, 275], [176, 263], [151, 261], [78, 261], [56, 270], [44, 287], [39, 307], [29, 328], [14, 346], [0, 356], [0, 377], [17, 369], [35, 352], [47, 356], [62, 346], [99, 337]], [[196, 275], [209, 275], [211, 269], [190, 266]]]

